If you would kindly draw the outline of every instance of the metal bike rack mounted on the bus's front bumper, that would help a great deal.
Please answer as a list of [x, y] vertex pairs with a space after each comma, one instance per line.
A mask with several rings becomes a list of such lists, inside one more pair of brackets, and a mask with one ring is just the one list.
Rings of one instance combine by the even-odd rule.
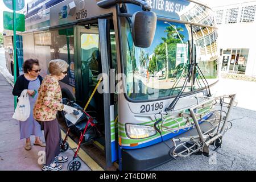
[[[192, 118], [193, 121], [190, 122], [189, 128], [196, 127], [198, 135], [196, 136], [189, 136], [189, 137], [182, 137], [182, 138], [173, 138], [172, 142], [174, 142], [174, 147], [169, 151], [170, 156], [176, 158], [177, 156], [186, 158], [192, 154], [204, 154], [205, 156], [209, 156], [209, 146], [213, 145], [217, 150], [221, 146], [221, 140], [224, 136], [225, 132], [229, 130], [228, 128], [228, 118], [230, 115], [231, 108], [234, 105], [236, 94], [224, 95], [215, 97], [206, 101], [197, 104], [189, 108], [189, 113], [180, 113], [181, 116], [185, 118]], [[229, 102], [225, 102], [225, 100], [229, 100]], [[199, 125], [199, 122], [210, 122], [212, 119], [202, 119], [202, 115], [196, 113], [197, 109], [204, 108], [205, 105], [209, 106], [209, 103], [212, 105], [220, 106], [218, 110], [210, 111], [216, 118], [215, 121], [218, 120], [218, 124], [213, 126], [212, 129], [203, 132]], [[213, 109], [213, 107], [210, 107]], [[225, 116], [223, 116], [225, 114]], [[220, 115], [219, 117], [217, 115]], [[201, 118], [201, 119], [200, 119]], [[217, 119], [219, 118], [219, 119]], [[189, 120], [189, 119], [188, 119]], [[214, 122], [215, 122], [214, 121]], [[183, 127], [178, 127], [176, 130], [184, 130]], [[174, 130], [174, 129], [172, 129]], [[171, 130], [171, 131], [172, 131]], [[174, 131], [173, 131], [174, 132]], [[180, 144], [177, 144], [179, 142]]]

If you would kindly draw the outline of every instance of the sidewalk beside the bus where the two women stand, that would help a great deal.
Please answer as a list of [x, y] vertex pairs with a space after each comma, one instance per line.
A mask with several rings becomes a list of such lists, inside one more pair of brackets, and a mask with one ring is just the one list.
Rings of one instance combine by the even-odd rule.
[[[32, 146], [30, 151], [24, 149], [25, 139], [19, 140], [19, 122], [12, 118], [14, 113], [13, 86], [0, 73], [0, 171], [40, 171], [42, 154], [45, 148]], [[44, 137], [41, 137], [44, 141]], [[31, 137], [31, 144], [35, 137]], [[68, 156], [70, 162], [74, 152], [69, 148], [63, 155]], [[67, 171], [68, 162], [63, 164], [62, 171]], [[79, 171], [90, 168], [82, 162]]]

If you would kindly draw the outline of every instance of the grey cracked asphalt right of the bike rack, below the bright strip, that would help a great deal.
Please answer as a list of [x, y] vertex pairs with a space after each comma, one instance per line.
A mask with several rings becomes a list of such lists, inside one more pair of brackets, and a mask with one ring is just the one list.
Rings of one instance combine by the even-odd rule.
[[256, 170], [256, 112], [235, 107], [230, 120], [233, 123], [223, 138], [223, 145], [216, 153], [216, 162], [205, 156], [192, 155], [177, 158], [153, 170]]

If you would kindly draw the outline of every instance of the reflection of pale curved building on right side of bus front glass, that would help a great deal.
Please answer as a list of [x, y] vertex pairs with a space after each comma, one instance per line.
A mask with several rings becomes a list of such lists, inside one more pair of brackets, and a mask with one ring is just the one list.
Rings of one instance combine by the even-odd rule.
[[[179, 13], [180, 19], [203, 24], [206, 26], [215, 26], [213, 11], [196, 3], [191, 3]], [[203, 72], [209, 84], [217, 80], [217, 30], [210, 27], [192, 26], [193, 39], [196, 44], [196, 61]], [[203, 87], [203, 81], [196, 73], [195, 88]]]

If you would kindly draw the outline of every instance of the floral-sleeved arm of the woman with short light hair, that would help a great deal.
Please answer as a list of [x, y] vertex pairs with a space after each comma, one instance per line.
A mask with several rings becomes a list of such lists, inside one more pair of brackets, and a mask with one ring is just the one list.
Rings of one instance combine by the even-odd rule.
[[57, 88], [59, 87], [58, 85], [59, 83], [57, 82], [52, 82], [52, 83], [48, 83], [48, 85], [46, 86], [46, 94], [43, 98], [43, 103], [44, 105], [46, 105], [47, 107], [51, 108], [51, 109], [56, 109], [56, 110], [63, 110], [64, 105], [61, 104], [59, 101], [56, 100], [56, 94], [57, 93]]

